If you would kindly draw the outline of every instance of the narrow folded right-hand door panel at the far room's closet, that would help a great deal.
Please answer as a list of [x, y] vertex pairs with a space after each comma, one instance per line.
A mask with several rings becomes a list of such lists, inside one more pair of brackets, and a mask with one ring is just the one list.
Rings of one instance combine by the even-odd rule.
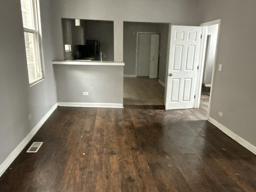
[[149, 78], [158, 77], [159, 34], [151, 35]]

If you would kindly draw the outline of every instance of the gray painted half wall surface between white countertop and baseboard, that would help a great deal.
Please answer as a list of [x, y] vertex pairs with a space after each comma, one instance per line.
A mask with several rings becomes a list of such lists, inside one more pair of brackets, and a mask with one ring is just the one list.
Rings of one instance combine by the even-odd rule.
[[123, 66], [54, 65], [58, 102], [122, 104], [123, 72]]

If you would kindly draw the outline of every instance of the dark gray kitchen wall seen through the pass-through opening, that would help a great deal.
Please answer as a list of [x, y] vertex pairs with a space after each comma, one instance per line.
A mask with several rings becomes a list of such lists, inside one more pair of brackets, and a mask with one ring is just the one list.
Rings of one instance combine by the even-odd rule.
[[84, 23], [85, 38], [98, 40], [100, 50], [105, 52], [103, 61], [114, 61], [114, 22], [99, 20], [81, 20]]

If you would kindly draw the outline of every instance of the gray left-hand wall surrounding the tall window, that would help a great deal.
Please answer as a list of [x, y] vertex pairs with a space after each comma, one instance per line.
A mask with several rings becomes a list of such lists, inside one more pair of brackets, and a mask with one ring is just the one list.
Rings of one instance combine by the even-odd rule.
[[[40, 1], [45, 79], [29, 86], [20, 0], [0, 6], [0, 164], [56, 103], [49, 0]], [[60, 49], [62, 51], [62, 49]], [[28, 121], [28, 114], [32, 119]]]

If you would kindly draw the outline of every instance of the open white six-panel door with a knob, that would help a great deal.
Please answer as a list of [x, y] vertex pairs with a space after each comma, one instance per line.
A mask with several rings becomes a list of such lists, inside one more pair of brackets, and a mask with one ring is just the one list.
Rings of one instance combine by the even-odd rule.
[[202, 27], [172, 26], [166, 78], [166, 109], [194, 108]]

